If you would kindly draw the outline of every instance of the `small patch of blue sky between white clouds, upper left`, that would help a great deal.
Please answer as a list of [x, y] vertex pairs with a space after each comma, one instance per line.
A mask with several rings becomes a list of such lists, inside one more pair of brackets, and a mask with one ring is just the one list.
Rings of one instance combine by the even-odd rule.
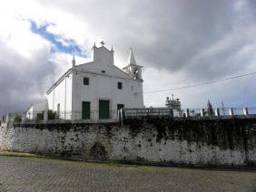
[[62, 53], [74, 53], [79, 56], [86, 57], [80, 47], [78, 46], [77, 43], [74, 42], [72, 39], [63, 39], [59, 35], [51, 34], [47, 32], [47, 27], [50, 24], [44, 24], [41, 26], [37, 26], [34, 21], [30, 21], [31, 23], [31, 31], [34, 34], [39, 34], [42, 36], [44, 39], [47, 41], [51, 42], [54, 44], [54, 47], [51, 48], [51, 53], [55, 52], [62, 52]]

